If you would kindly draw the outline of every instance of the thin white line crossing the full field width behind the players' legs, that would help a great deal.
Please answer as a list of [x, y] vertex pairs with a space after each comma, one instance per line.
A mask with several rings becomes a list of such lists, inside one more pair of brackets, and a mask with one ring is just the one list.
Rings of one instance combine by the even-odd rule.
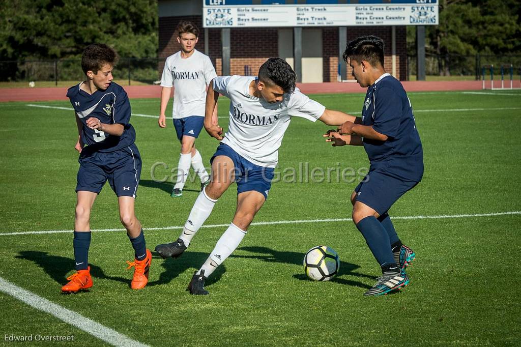
[[[507, 216], [507, 215], [521, 215], [521, 211], [510, 211], [510, 212], [497, 212], [497, 213], [482, 213], [482, 214], [463, 214], [463, 215], [437, 215], [437, 216], [393, 216], [392, 219], [449, 219], [449, 218], [474, 218], [474, 217], [495, 217], [495, 216]], [[297, 220], [275, 220], [265, 222], [253, 222], [251, 225], [277, 225], [277, 224], [302, 224], [302, 223], [319, 223], [319, 222], [339, 222], [339, 221], [351, 221], [351, 218], [333, 218], [333, 219], [297, 219]], [[228, 227], [230, 224], [213, 224], [203, 225], [201, 228], [221, 228]], [[155, 228], [143, 228], [143, 230], [176, 230], [182, 229], [183, 226], [170, 226], [170, 227], [155, 227]], [[57, 234], [72, 232], [73, 230], [41, 230], [41, 231], [20, 231], [20, 232], [4, 232], [0, 233], [0, 236], [9, 235], [28, 235], [28, 234]], [[123, 228], [116, 229], [92, 229], [95, 232], [104, 231], [125, 231]]]

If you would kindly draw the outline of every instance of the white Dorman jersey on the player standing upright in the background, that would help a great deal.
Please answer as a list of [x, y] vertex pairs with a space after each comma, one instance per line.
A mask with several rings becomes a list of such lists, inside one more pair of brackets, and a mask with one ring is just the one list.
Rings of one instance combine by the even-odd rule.
[[210, 58], [197, 49], [186, 59], [181, 51], [166, 58], [161, 86], [175, 88], [172, 117], [204, 117], [206, 86], [216, 76]]

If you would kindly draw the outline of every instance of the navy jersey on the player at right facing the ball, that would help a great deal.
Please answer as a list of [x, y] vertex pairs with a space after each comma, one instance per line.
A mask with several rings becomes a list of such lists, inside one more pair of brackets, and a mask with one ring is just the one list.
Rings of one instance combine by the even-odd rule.
[[424, 172], [423, 148], [411, 102], [399, 80], [386, 73], [369, 86], [362, 122], [388, 137], [386, 141], [364, 138], [371, 169], [419, 182]]

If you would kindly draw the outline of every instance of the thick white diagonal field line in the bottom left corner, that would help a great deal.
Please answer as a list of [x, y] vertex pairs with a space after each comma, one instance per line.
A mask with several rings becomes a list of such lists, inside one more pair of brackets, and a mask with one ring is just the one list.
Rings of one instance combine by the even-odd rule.
[[0, 291], [13, 298], [18, 299], [39, 311], [46, 312], [63, 320], [65, 323], [73, 325], [92, 336], [103, 340], [114, 346], [146, 346], [146, 344], [132, 340], [119, 332], [110, 329], [89, 318], [83, 317], [77, 312], [70, 311], [63, 306], [48, 301], [39, 295], [16, 286], [15, 284], [0, 277]]

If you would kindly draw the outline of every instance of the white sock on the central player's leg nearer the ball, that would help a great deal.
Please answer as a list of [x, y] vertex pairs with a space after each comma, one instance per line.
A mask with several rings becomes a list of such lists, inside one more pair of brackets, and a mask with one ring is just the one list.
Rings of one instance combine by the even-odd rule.
[[219, 241], [217, 241], [214, 250], [210, 253], [206, 262], [204, 262], [203, 266], [197, 271], [197, 275], [201, 274], [201, 270], [204, 270], [204, 277], [206, 278], [212, 275], [212, 272], [239, 247], [245, 234], [246, 231], [239, 229], [231, 223]]

